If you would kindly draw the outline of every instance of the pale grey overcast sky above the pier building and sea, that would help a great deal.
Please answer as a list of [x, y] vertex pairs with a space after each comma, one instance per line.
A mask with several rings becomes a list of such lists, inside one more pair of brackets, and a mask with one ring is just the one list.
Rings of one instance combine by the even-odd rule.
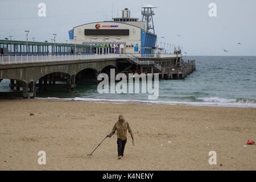
[[[9, 35], [26, 40], [68, 40], [68, 30], [80, 24], [121, 16], [126, 7], [141, 18], [142, 5], [154, 5], [156, 34], [166, 43], [180, 45], [188, 55], [256, 56], [255, 0], [0, 0], [0, 39]], [[38, 4], [46, 4], [46, 17], [38, 16]], [[208, 15], [209, 3], [216, 3], [217, 17]], [[181, 35], [180, 37], [177, 35]], [[241, 46], [237, 43], [241, 42]], [[228, 50], [224, 53], [223, 49]]]

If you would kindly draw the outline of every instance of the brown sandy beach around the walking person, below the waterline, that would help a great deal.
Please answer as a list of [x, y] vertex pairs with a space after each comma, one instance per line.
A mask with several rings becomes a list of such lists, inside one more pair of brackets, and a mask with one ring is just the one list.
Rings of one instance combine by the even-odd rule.
[[[58, 100], [0, 100], [0, 170], [256, 170], [256, 109]], [[118, 115], [130, 123], [125, 157]], [[244, 147], [246, 146], [246, 147]], [[46, 152], [46, 165], [38, 152]], [[209, 165], [209, 151], [217, 165]], [[221, 165], [222, 164], [222, 165]]]

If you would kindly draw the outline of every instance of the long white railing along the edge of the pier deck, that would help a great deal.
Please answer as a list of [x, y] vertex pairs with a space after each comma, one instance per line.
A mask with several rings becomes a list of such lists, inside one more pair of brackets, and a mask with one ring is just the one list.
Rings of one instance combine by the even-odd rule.
[[[178, 55], [180, 56], [180, 55]], [[177, 57], [177, 55], [170, 54], [154, 54], [154, 55], [133, 55], [126, 54], [106, 54], [106, 55], [25, 55], [25, 56], [0, 56], [1, 64], [22, 64], [22, 63], [40, 63], [40, 62], [54, 62], [54, 61], [75, 61], [75, 60], [100, 60], [100, 59], [118, 59], [130, 58], [135, 62], [142, 63], [139, 58], [159, 58], [159, 57]], [[154, 61], [152, 61], [154, 64]], [[152, 64], [151, 61], [143, 62], [143, 64]]]

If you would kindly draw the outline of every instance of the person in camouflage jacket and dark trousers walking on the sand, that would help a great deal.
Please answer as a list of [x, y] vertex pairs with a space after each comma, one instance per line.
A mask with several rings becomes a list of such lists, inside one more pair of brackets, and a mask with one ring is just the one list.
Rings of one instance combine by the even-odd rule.
[[112, 133], [110, 133], [107, 137], [112, 137], [115, 131], [117, 131], [117, 151], [118, 151], [118, 159], [122, 159], [123, 152], [125, 151], [125, 144], [127, 142], [127, 130], [131, 134], [131, 138], [133, 138], [133, 132], [131, 131], [131, 127], [129, 123], [125, 121], [123, 115], [119, 115], [119, 120], [115, 123]]

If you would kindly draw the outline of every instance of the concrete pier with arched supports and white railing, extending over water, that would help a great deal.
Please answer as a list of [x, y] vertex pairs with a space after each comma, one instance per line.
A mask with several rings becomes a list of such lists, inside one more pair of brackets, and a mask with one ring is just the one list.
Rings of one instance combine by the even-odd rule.
[[[1, 56], [0, 82], [10, 80], [12, 92], [2, 97], [34, 98], [36, 90], [75, 90], [78, 83], [97, 84], [100, 73], [158, 73], [162, 79], [184, 79], [195, 71], [195, 60], [184, 62], [181, 55], [36, 55]], [[36, 89], [37, 88], [37, 89]]]

